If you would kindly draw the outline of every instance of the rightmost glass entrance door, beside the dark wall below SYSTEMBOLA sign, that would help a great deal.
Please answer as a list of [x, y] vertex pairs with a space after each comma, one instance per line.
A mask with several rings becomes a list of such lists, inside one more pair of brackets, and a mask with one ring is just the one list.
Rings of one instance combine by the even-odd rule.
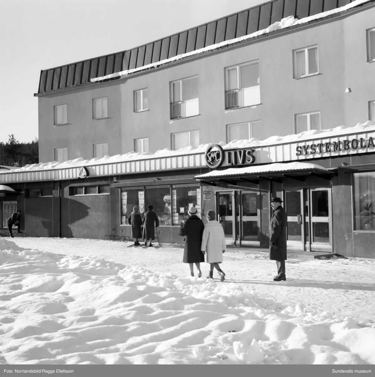
[[311, 250], [332, 252], [331, 189], [310, 189], [310, 213]]

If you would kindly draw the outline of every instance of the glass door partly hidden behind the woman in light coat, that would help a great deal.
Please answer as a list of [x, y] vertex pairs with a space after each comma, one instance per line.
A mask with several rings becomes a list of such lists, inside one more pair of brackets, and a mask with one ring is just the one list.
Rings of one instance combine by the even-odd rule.
[[234, 219], [234, 191], [218, 192], [216, 196], [217, 204], [217, 221], [223, 227], [225, 242], [227, 245], [234, 245], [235, 235], [235, 219]]

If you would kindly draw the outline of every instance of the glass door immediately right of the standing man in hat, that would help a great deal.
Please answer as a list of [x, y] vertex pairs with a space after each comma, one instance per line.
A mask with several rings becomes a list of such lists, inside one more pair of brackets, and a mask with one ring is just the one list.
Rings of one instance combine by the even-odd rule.
[[304, 250], [305, 232], [303, 229], [303, 190], [285, 191], [286, 247]]

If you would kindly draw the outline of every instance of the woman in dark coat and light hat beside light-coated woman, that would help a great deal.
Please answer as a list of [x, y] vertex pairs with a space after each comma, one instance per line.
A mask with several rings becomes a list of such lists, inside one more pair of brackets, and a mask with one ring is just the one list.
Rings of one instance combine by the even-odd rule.
[[201, 251], [202, 235], [204, 231], [203, 221], [196, 215], [197, 209], [190, 207], [190, 217], [181, 224], [180, 236], [185, 236], [184, 263], [188, 263], [190, 274], [194, 276], [194, 263], [198, 270], [198, 277], [202, 277], [201, 262], [204, 262], [204, 254]]

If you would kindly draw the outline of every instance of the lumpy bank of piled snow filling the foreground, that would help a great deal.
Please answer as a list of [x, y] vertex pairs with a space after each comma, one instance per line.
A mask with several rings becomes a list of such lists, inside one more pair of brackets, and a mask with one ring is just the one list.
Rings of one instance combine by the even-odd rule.
[[375, 362], [375, 328], [302, 303], [96, 257], [2, 253], [3, 363]]

